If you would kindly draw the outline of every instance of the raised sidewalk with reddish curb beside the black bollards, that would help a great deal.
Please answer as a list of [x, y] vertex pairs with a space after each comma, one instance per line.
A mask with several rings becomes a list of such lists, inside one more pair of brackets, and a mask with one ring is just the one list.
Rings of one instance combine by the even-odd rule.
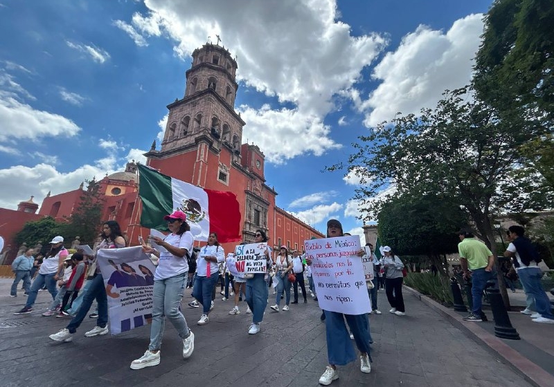
[[530, 317], [519, 312], [525, 308], [526, 297], [522, 290], [508, 292], [512, 306], [512, 312], [508, 312], [508, 317], [520, 337], [520, 340], [508, 340], [494, 336], [491, 310], [484, 309], [489, 322], [463, 321], [462, 318], [467, 313], [445, 308], [409, 287], [404, 289], [442, 314], [454, 326], [472, 335], [476, 342], [488, 346], [494, 355], [501, 357], [530, 383], [535, 386], [554, 386], [554, 325], [533, 323]]

